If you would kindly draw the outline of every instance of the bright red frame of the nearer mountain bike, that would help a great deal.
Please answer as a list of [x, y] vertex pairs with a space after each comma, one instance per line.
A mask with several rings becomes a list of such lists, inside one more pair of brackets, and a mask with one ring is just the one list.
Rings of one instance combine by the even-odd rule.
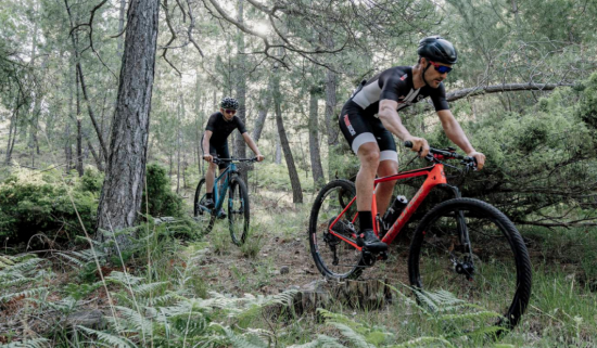
[[[388, 230], [388, 233], [385, 233], [385, 235], [381, 240], [383, 243], [386, 243], [386, 244], [392, 243], [392, 241], [394, 241], [394, 239], [398, 235], [398, 233], [402, 231], [402, 229], [406, 225], [406, 223], [408, 222], [408, 220], [410, 219], [410, 217], [412, 216], [415, 210], [417, 210], [417, 208], [421, 205], [421, 203], [424, 201], [424, 198], [429, 195], [431, 190], [433, 190], [437, 185], [447, 184], [447, 180], [446, 180], [446, 175], [444, 172], [444, 165], [443, 164], [434, 164], [433, 166], [430, 166], [430, 167], [409, 170], [409, 171], [404, 171], [404, 172], [398, 172], [394, 176], [378, 178], [378, 179], [374, 180], [374, 186], [377, 186], [377, 184], [380, 183], [380, 182], [397, 181], [397, 180], [415, 178], [415, 177], [422, 177], [422, 176], [427, 176], [425, 181], [423, 182], [423, 184], [421, 185], [419, 191], [417, 191], [417, 193], [415, 194], [412, 199], [410, 199], [408, 205], [404, 208], [404, 210], [398, 216], [398, 218], [396, 219], [394, 224], [392, 224], [390, 230]], [[344, 216], [344, 214], [346, 214], [348, 208], [353, 204], [355, 204], [355, 201], [356, 201], [356, 196], [351, 201], [351, 203], [348, 203], [346, 205], [346, 207], [342, 210], [342, 212], [330, 224], [330, 227], [328, 229], [328, 232], [333, 234], [334, 236], [343, 240], [344, 242], [351, 244], [356, 249], [360, 250], [361, 247], [358, 246], [355, 241], [350, 240], [346, 236], [341, 235], [341, 234], [335, 233], [334, 231], [332, 231], [332, 227], [338, 222], [338, 220], [340, 220], [342, 218], [342, 216]], [[377, 207], [377, 204], [376, 204], [376, 192], [374, 191], [373, 191], [373, 198], [372, 198], [372, 204], [371, 204], [371, 215], [373, 216], [373, 219], [378, 215], [378, 207]], [[354, 223], [356, 221], [357, 217], [358, 217], [358, 214], [355, 214], [354, 218], [351, 221]], [[376, 219], [376, 223], [373, 223], [373, 231], [377, 235], [379, 235], [379, 225], [377, 223], [377, 219]]]

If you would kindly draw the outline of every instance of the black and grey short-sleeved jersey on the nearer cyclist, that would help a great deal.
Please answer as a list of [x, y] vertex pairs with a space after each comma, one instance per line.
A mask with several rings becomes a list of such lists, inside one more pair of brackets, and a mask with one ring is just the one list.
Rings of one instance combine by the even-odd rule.
[[380, 100], [398, 102], [397, 109], [410, 106], [423, 98], [430, 96], [435, 111], [448, 109], [444, 83], [437, 88], [423, 86], [415, 89], [412, 85], [412, 67], [394, 66], [373, 76], [352, 96], [353, 102], [360, 106], [364, 115], [376, 115], [379, 112]]

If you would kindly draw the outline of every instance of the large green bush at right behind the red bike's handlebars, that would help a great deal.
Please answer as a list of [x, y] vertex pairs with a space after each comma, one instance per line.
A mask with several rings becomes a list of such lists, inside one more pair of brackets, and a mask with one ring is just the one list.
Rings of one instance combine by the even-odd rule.
[[[597, 115], [596, 81], [594, 75], [583, 91], [556, 90], [520, 113], [492, 111], [461, 121], [471, 143], [487, 156], [485, 168], [465, 181], [463, 195], [490, 202], [519, 223], [534, 223], [544, 216], [556, 224], [596, 219], [597, 206], [586, 197], [597, 175], [592, 125], [592, 115]], [[441, 127], [428, 139], [432, 146], [449, 145]], [[580, 218], [583, 209], [586, 214]]]

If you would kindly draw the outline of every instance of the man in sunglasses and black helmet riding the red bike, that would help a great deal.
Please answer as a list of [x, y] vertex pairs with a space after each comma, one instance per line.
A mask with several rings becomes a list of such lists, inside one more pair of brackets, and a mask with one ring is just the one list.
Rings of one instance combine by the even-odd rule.
[[[485, 163], [485, 155], [472, 147], [446, 102], [442, 81], [457, 61], [454, 46], [440, 36], [431, 36], [419, 41], [417, 53], [417, 65], [391, 67], [364, 81], [344, 104], [339, 118], [344, 138], [360, 160], [355, 182], [361, 231], [357, 244], [372, 252], [388, 248], [373, 233], [370, 204], [376, 173], [386, 177], [398, 172], [396, 143], [392, 134], [402, 141], [410, 141], [412, 151], [419, 152], [421, 157], [429, 153], [427, 140], [412, 137], [403, 126], [399, 109], [430, 96], [449, 140], [467, 155], [477, 158], [479, 169]], [[376, 189], [376, 204], [381, 216], [390, 204], [394, 184], [395, 181], [382, 182]]]

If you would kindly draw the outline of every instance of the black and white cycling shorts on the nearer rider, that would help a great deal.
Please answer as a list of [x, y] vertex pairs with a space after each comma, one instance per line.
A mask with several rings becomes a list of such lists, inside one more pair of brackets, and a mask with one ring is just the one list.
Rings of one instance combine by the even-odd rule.
[[352, 100], [342, 107], [338, 124], [355, 154], [360, 145], [372, 142], [379, 146], [380, 162], [398, 162], [396, 142], [392, 132], [383, 127], [379, 118], [366, 115], [365, 111]]

